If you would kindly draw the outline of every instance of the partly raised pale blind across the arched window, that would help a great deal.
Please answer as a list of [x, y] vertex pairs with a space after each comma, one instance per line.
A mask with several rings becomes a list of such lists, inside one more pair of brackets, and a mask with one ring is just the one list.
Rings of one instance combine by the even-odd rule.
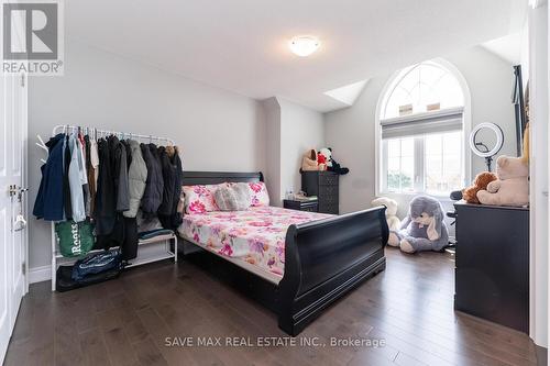
[[463, 108], [416, 113], [381, 121], [382, 138], [397, 138], [462, 130]]

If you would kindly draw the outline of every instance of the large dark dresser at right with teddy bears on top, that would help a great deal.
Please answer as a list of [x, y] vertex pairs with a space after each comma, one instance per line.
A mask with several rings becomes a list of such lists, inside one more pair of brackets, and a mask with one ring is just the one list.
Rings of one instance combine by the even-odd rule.
[[457, 208], [457, 310], [529, 332], [529, 209]]

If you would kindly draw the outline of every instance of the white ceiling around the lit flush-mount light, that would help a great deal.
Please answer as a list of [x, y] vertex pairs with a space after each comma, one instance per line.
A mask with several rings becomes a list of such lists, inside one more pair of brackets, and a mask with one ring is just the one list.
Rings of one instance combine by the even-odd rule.
[[[517, 33], [527, 0], [70, 0], [69, 38], [256, 99], [326, 91]], [[321, 40], [310, 57], [287, 41]]]

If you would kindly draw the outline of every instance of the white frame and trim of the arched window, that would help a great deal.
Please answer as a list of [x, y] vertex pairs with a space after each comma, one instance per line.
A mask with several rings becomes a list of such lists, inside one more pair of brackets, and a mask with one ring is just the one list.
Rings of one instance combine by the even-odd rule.
[[[457, 78], [459, 81], [459, 85], [462, 89], [463, 97], [464, 97], [464, 106], [462, 107], [462, 176], [464, 179], [464, 185], [468, 181], [471, 181], [471, 176], [472, 176], [472, 154], [470, 151], [470, 147], [468, 145], [468, 136], [470, 135], [470, 131], [472, 130], [472, 114], [471, 114], [471, 95], [470, 95], [470, 89], [468, 87], [468, 84], [462, 76], [462, 74], [452, 65], [451, 63], [447, 62], [446, 59], [442, 58], [436, 58], [429, 60], [435, 64], [439, 64], [439, 66], [446, 68], [452, 76]], [[404, 74], [406, 74], [408, 70], [414, 68], [416, 65], [409, 66], [405, 69], [400, 69], [395, 71], [392, 77], [386, 81], [384, 88], [382, 89], [382, 92], [378, 96], [378, 102], [376, 104], [376, 114], [375, 114], [375, 195], [377, 197], [380, 196], [417, 196], [417, 195], [428, 195], [428, 192], [425, 190], [425, 185], [424, 185], [424, 179], [426, 176], [425, 171], [425, 153], [424, 153], [424, 135], [415, 137], [415, 181], [414, 181], [414, 187], [415, 191], [414, 192], [392, 192], [387, 191], [387, 182], [384, 180], [383, 185], [383, 179], [384, 179], [384, 173], [387, 171], [384, 169], [384, 162], [387, 162], [387, 148], [384, 147], [384, 141], [382, 140], [382, 125], [381, 121], [383, 120], [382, 113], [384, 112], [384, 109], [386, 107], [387, 98], [392, 90], [396, 86], [396, 80], [403, 77]], [[398, 81], [397, 81], [398, 82]], [[451, 108], [452, 109], [452, 108]], [[439, 110], [439, 111], [433, 111], [435, 113], [444, 113], [446, 110]], [[411, 114], [410, 117], [415, 118], [419, 114], [422, 113], [415, 113]], [[431, 114], [430, 112], [426, 112], [426, 114]], [[420, 154], [421, 149], [421, 154]], [[417, 151], [419, 153], [417, 153]], [[385, 158], [385, 160], [384, 160]], [[417, 179], [417, 171], [422, 173], [422, 178]], [[420, 181], [417, 181], [420, 180]], [[384, 189], [383, 189], [384, 187]], [[421, 188], [421, 189], [420, 189]], [[450, 198], [448, 196], [441, 196], [441, 195], [433, 195], [431, 193], [430, 196], [437, 197], [441, 200], [449, 200]]]

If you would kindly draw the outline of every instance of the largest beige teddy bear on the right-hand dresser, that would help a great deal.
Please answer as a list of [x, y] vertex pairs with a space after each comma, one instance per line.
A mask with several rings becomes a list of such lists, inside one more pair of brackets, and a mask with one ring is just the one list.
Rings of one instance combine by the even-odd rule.
[[501, 155], [496, 159], [498, 179], [477, 192], [483, 204], [527, 206], [529, 204], [529, 167], [521, 157]]

